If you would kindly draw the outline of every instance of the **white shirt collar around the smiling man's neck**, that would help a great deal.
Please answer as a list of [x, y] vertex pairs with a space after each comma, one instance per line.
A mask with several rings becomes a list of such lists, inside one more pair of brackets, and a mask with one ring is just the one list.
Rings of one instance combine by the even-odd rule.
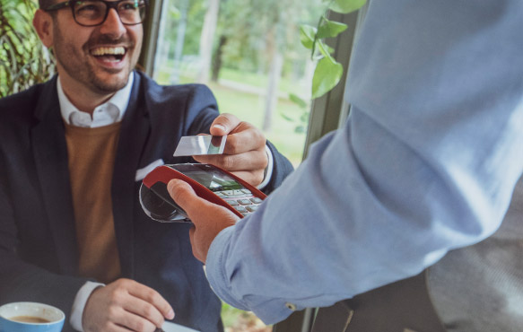
[[131, 99], [134, 79], [135, 74], [133, 72], [129, 75], [126, 86], [118, 90], [108, 101], [96, 107], [91, 116], [89, 113], [77, 109], [65, 96], [62, 83], [60, 83], [60, 76], [58, 76], [57, 92], [62, 118], [64, 118], [65, 123], [76, 127], [102, 127], [120, 122], [124, 118]]

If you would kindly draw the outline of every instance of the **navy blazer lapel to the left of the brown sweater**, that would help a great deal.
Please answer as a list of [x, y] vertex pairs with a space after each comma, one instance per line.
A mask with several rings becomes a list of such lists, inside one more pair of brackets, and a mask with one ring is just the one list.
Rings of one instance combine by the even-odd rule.
[[57, 76], [46, 84], [35, 111], [39, 122], [31, 129], [31, 144], [39, 184], [57, 249], [60, 270], [76, 275], [78, 248], [67, 162], [64, 122], [57, 97]]

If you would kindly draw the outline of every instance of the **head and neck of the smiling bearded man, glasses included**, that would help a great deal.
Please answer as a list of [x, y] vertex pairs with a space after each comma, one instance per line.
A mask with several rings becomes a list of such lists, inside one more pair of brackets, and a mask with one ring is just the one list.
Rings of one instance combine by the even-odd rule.
[[35, 28], [42, 43], [54, 50], [65, 95], [78, 109], [89, 112], [126, 86], [142, 48], [146, 4], [133, 0], [113, 5], [46, 3], [52, 2], [40, 2], [45, 9], [35, 13]]

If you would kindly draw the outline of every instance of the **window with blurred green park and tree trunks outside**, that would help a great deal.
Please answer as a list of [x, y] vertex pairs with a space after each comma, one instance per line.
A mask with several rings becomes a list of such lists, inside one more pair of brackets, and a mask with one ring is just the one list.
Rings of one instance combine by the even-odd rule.
[[296, 167], [302, 158], [314, 64], [299, 25], [316, 24], [321, 0], [164, 0], [153, 78], [205, 83], [221, 112], [262, 128]]

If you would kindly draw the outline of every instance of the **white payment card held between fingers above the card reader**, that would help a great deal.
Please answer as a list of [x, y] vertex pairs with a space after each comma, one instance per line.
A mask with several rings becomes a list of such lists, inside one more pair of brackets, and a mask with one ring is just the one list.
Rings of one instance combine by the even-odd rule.
[[179, 140], [173, 156], [182, 157], [202, 154], [222, 154], [225, 149], [227, 135], [196, 135], [183, 136]]

